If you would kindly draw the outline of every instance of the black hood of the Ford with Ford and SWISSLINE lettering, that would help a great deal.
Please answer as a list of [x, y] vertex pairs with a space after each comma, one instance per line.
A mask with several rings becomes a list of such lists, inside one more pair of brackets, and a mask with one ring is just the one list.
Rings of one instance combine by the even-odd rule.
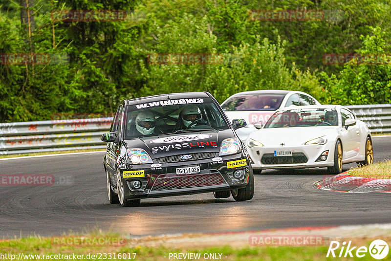
[[178, 154], [219, 152], [221, 142], [232, 137], [235, 137], [234, 131], [227, 129], [143, 137], [125, 140], [125, 143], [129, 149], [144, 149], [155, 159]]

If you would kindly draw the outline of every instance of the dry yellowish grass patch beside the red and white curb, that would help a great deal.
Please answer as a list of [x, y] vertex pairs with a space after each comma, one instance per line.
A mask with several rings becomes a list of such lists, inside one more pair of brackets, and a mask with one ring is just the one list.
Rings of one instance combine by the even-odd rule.
[[363, 167], [357, 167], [349, 170], [348, 174], [358, 177], [391, 178], [391, 161], [386, 160]]

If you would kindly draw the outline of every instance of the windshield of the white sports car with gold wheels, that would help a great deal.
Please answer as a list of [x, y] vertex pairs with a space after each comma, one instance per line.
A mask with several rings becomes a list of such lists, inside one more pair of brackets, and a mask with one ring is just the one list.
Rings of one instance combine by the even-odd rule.
[[335, 109], [288, 109], [274, 113], [263, 128], [337, 125], [338, 114]]

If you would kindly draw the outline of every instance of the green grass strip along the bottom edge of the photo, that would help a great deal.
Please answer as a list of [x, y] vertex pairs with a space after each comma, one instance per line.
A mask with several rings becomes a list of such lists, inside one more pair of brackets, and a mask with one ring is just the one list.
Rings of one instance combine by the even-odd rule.
[[[87, 236], [88, 237], [88, 236]], [[368, 239], [363, 242], [363, 246], [369, 247], [371, 241]], [[16, 259], [20, 253], [23, 253], [22, 260], [50, 260], [49, 256], [43, 255], [67, 255], [58, 256], [55, 258], [52, 256], [51, 260], [71, 260], [69, 255], [80, 255], [77, 260], [153, 260], [153, 261], [163, 261], [163, 260], [174, 260], [174, 253], [194, 253], [200, 254], [200, 258], [195, 260], [213, 260], [211, 254], [216, 259], [226, 260], [226, 261], [258, 261], [258, 260], [276, 260], [276, 261], [292, 261], [292, 260], [333, 260], [333, 258], [327, 258], [326, 254], [328, 250], [327, 246], [245, 246], [235, 248], [229, 245], [222, 245], [217, 247], [206, 247], [206, 248], [192, 248], [182, 247], [182, 248], [171, 248], [165, 247], [162, 245], [157, 246], [67, 246], [67, 245], [55, 245], [53, 244], [53, 238], [39, 238], [39, 237], [30, 237], [25, 239], [6, 239], [0, 240], [0, 256], [5, 254], [15, 255]], [[89, 256], [87, 256], [89, 254]], [[106, 254], [106, 255], [105, 255]], [[120, 257], [118, 256], [120, 254]], [[170, 258], [171, 254], [171, 258]], [[221, 255], [220, 255], [221, 254]], [[25, 255], [41, 255], [38, 256], [25, 256]], [[83, 255], [83, 256], [81, 256]], [[92, 255], [95, 255], [92, 257]], [[109, 258], [111, 255], [111, 259]], [[125, 255], [126, 258], [123, 258]], [[106, 256], [106, 258], [105, 258]], [[4, 257], [4, 256], [3, 256]], [[8, 256], [9, 257], [9, 256]], [[115, 257], [115, 258], [114, 258]], [[205, 257], [208, 257], [206, 259]], [[334, 258], [335, 259], [335, 258]], [[356, 258], [357, 259], [357, 258]], [[11, 260], [2, 258], [2, 260]], [[351, 259], [338, 259], [338, 260], [351, 260]], [[373, 260], [370, 255], [367, 255], [364, 258], [357, 259], [360, 261]], [[391, 260], [391, 255], [389, 255], [384, 260]]]

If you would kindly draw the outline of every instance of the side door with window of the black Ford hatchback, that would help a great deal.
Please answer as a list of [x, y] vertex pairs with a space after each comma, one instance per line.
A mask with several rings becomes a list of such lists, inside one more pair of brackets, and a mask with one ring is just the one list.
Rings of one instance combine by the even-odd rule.
[[[115, 132], [116, 136], [120, 133], [120, 126], [122, 122], [122, 114], [124, 111], [123, 105], [118, 106], [117, 113], [115, 113], [115, 117], [113, 119], [113, 123], [111, 124], [110, 132]], [[117, 156], [117, 149], [119, 143], [108, 142], [107, 143], [107, 152], [106, 152], [106, 162], [109, 173], [114, 176], [115, 175], [115, 160]]]

